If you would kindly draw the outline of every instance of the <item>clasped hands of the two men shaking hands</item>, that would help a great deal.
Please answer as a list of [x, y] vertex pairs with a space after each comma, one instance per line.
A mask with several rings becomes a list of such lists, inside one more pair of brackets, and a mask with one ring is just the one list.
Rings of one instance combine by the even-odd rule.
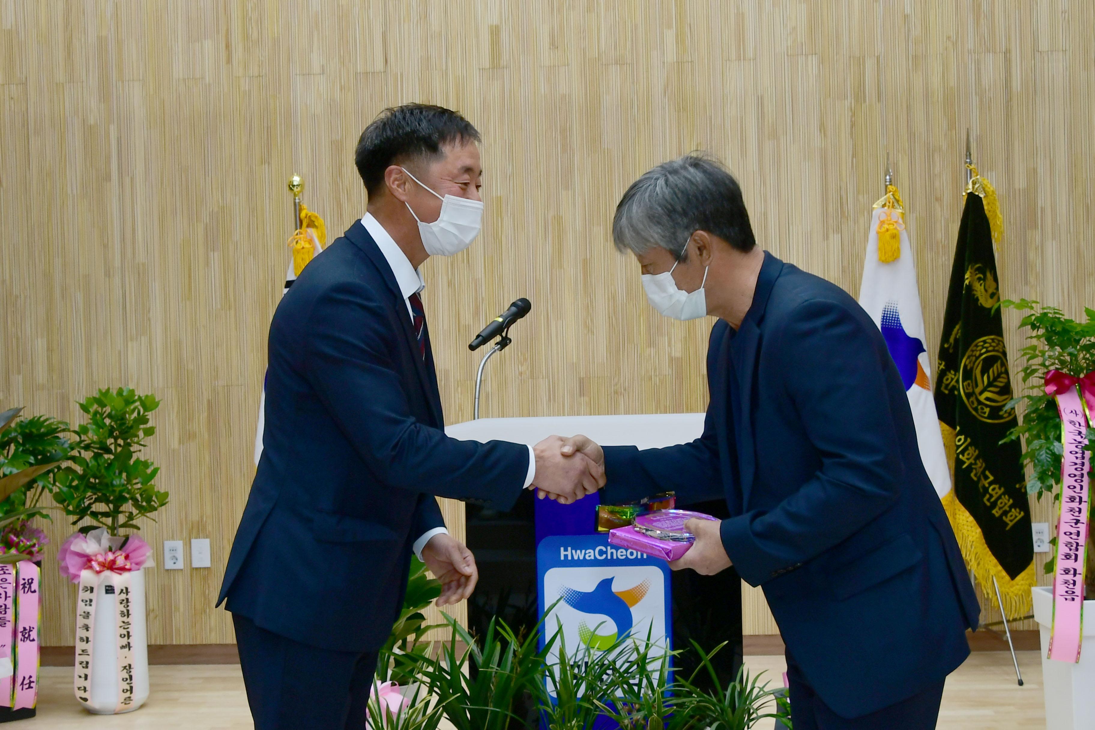
[[532, 453], [535, 475], [529, 488], [540, 499], [569, 505], [604, 486], [604, 452], [585, 436], [550, 436]]

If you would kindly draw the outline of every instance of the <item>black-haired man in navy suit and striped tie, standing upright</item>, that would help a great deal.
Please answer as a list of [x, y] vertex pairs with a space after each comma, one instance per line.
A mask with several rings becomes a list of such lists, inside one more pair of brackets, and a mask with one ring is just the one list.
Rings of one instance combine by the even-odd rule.
[[412, 553], [468, 598], [475, 560], [436, 496], [509, 509], [527, 487], [569, 501], [599, 464], [446, 437], [419, 267], [471, 244], [483, 215], [480, 135], [412, 104], [362, 132], [365, 217], [301, 273], [269, 333], [262, 459], [218, 605], [232, 612], [257, 730], [360, 729]]

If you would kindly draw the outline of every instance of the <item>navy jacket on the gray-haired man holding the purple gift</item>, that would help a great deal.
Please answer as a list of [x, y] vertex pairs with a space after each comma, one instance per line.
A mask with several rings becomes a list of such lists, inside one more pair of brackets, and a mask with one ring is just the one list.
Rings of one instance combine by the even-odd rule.
[[725, 497], [723, 545], [761, 586], [821, 699], [860, 717], [938, 683], [980, 613], [878, 328], [839, 287], [765, 254], [707, 350], [703, 436], [606, 448], [609, 502]]

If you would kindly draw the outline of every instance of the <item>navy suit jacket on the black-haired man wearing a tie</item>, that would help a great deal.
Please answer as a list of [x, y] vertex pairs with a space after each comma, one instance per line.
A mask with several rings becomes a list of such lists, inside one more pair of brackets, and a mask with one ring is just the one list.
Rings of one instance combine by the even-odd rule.
[[508, 510], [529, 449], [445, 436], [433, 354], [360, 221], [281, 299], [268, 348], [263, 454], [218, 605], [310, 646], [374, 650], [414, 541], [443, 525], [434, 496]]

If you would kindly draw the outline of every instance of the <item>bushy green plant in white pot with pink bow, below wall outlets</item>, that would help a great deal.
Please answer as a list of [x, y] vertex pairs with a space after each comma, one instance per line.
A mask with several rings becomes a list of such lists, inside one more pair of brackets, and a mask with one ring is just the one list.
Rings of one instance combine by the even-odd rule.
[[81, 524], [61, 545], [61, 573], [79, 583], [76, 694], [91, 712], [128, 712], [148, 698], [145, 573], [151, 548], [137, 523], [168, 503], [159, 472], [138, 456], [155, 433], [160, 402], [132, 389], [100, 390], [78, 404], [88, 422], [73, 432], [54, 500]]

